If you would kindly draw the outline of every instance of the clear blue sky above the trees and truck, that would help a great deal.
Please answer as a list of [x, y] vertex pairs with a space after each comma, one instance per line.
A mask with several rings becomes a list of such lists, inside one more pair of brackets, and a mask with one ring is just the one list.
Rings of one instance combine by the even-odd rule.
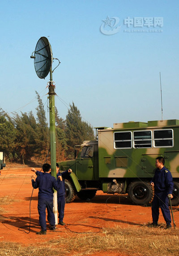
[[[178, 0], [1, 0], [0, 5], [0, 107], [9, 114], [35, 115], [35, 90], [47, 109], [50, 77], [39, 79], [30, 59], [46, 36], [61, 62], [53, 80], [62, 118], [74, 102], [93, 127], [159, 120], [161, 72], [163, 119], [179, 119]], [[105, 27], [107, 17], [111, 26]], [[101, 26], [116, 28], [116, 17], [120, 30], [102, 34]], [[128, 17], [160, 17], [163, 26], [128, 28]]]

